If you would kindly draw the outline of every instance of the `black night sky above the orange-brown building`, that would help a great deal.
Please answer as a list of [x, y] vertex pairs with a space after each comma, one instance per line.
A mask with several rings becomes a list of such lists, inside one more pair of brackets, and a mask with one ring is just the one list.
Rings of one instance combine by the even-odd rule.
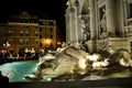
[[[67, 0], [2, 0], [0, 2], [0, 20], [11, 14], [20, 14], [28, 11], [31, 15], [48, 14], [57, 20], [65, 32], [65, 9]], [[65, 35], [64, 35], [65, 36]]]

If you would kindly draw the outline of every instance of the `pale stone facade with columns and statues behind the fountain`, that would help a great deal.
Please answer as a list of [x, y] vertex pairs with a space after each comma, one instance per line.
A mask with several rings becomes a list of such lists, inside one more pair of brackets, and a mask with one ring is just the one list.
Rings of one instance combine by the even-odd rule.
[[132, 47], [132, 0], [68, 0], [66, 41], [87, 44], [89, 52], [103, 48], [106, 38], [114, 50]]

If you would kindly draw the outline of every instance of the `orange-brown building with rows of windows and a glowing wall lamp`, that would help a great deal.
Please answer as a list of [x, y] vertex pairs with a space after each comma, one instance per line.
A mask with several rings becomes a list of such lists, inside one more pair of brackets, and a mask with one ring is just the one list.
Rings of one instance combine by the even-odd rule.
[[0, 47], [7, 47], [14, 53], [25, 48], [34, 48], [35, 52], [55, 50], [61, 41], [56, 34], [58, 29], [55, 20], [31, 16], [28, 12], [11, 15], [8, 23], [0, 25]]

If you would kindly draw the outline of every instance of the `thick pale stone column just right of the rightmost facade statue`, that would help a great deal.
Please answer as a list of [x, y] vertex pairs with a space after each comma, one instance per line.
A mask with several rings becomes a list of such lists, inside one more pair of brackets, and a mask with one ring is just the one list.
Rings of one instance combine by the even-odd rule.
[[116, 0], [106, 0], [107, 31], [110, 37], [116, 36]]

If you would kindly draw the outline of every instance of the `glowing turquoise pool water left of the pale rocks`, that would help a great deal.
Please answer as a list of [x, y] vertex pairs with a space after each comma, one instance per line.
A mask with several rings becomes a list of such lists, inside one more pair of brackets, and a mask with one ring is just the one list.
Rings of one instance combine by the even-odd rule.
[[25, 75], [31, 75], [37, 67], [37, 62], [26, 61], [26, 62], [12, 62], [0, 66], [0, 70], [3, 76], [9, 77], [9, 81], [28, 81], [24, 79]]

